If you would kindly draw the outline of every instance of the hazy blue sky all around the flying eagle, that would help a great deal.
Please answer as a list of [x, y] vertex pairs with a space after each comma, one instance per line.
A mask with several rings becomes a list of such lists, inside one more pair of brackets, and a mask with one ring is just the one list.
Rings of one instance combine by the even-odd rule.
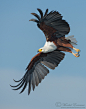
[[[29, 22], [40, 8], [57, 10], [70, 24], [70, 33], [81, 50], [76, 58], [66, 53], [55, 70], [31, 91], [13, 91], [31, 58], [45, 43], [44, 34]], [[68, 36], [67, 35], [67, 36]], [[55, 103], [81, 104], [86, 108], [86, 0], [0, 0], [0, 109], [60, 109]]]

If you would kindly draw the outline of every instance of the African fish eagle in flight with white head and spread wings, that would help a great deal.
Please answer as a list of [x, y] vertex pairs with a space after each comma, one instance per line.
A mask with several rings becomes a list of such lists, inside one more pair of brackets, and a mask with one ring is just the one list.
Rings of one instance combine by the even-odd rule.
[[[50, 69], [55, 69], [58, 64], [63, 60], [65, 52], [72, 53], [75, 57], [79, 57], [79, 49], [73, 47], [76, 45], [77, 41], [74, 36], [65, 37], [66, 34], [70, 32], [69, 24], [62, 19], [61, 14], [58, 11], [51, 11], [48, 13], [46, 9], [44, 15], [41, 9], [37, 9], [40, 16], [36, 13], [31, 13], [37, 19], [30, 19], [29, 21], [34, 21], [37, 23], [38, 28], [40, 28], [45, 34], [46, 42], [43, 47], [38, 50], [38, 54], [35, 55], [29, 65], [26, 68], [25, 75], [18, 81], [14, 80], [18, 84], [12, 86], [13, 90], [18, 90], [22, 88], [22, 93], [26, 86], [28, 85], [28, 95], [31, 92], [31, 88], [35, 89], [41, 83], [42, 79], [49, 73]], [[76, 53], [72, 52], [75, 50]]]

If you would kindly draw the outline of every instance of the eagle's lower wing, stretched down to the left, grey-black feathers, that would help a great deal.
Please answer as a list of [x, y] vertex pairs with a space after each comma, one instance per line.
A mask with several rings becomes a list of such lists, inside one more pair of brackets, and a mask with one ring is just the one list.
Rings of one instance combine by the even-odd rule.
[[[51, 69], [55, 69], [55, 67], [58, 66], [60, 61], [64, 58], [65, 54], [55, 50], [50, 53], [38, 53], [36, 56], [34, 56], [29, 63], [29, 65], [26, 68], [26, 73], [22, 77], [22, 79], [15, 81], [19, 82], [16, 86], [11, 86], [14, 89], [18, 90], [21, 87], [22, 90], [20, 93], [22, 93], [26, 86], [28, 85], [28, 95], [31, 91], [31, 86], [33, 88], [33, 91], [35, 89], [35, 86], [38, 86], [38, 84], [44, 79], [44, 77], [49, 73], [49, 70], [45, 67], [49, 67]], [[45, 66], [44, 66], [45, 65]]]

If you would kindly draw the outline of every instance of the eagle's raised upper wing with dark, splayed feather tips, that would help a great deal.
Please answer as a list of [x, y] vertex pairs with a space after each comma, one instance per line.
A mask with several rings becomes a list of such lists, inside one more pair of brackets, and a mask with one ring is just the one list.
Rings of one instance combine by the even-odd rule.
[[48, 14], [48, 9], [46, 9], [45, 14], [43, 15], [41, 9], [37, 10], [41, 17], [36, 13], [31, 13], [37, 17], [37, 20], [31, 19], [30, 21], [37, 22], [38, 27], [44, 32], [47, 41], [65, 36], [69, 33], [69, 24], [62, 19], [62, 16], [58, 11], [51, 11]]

